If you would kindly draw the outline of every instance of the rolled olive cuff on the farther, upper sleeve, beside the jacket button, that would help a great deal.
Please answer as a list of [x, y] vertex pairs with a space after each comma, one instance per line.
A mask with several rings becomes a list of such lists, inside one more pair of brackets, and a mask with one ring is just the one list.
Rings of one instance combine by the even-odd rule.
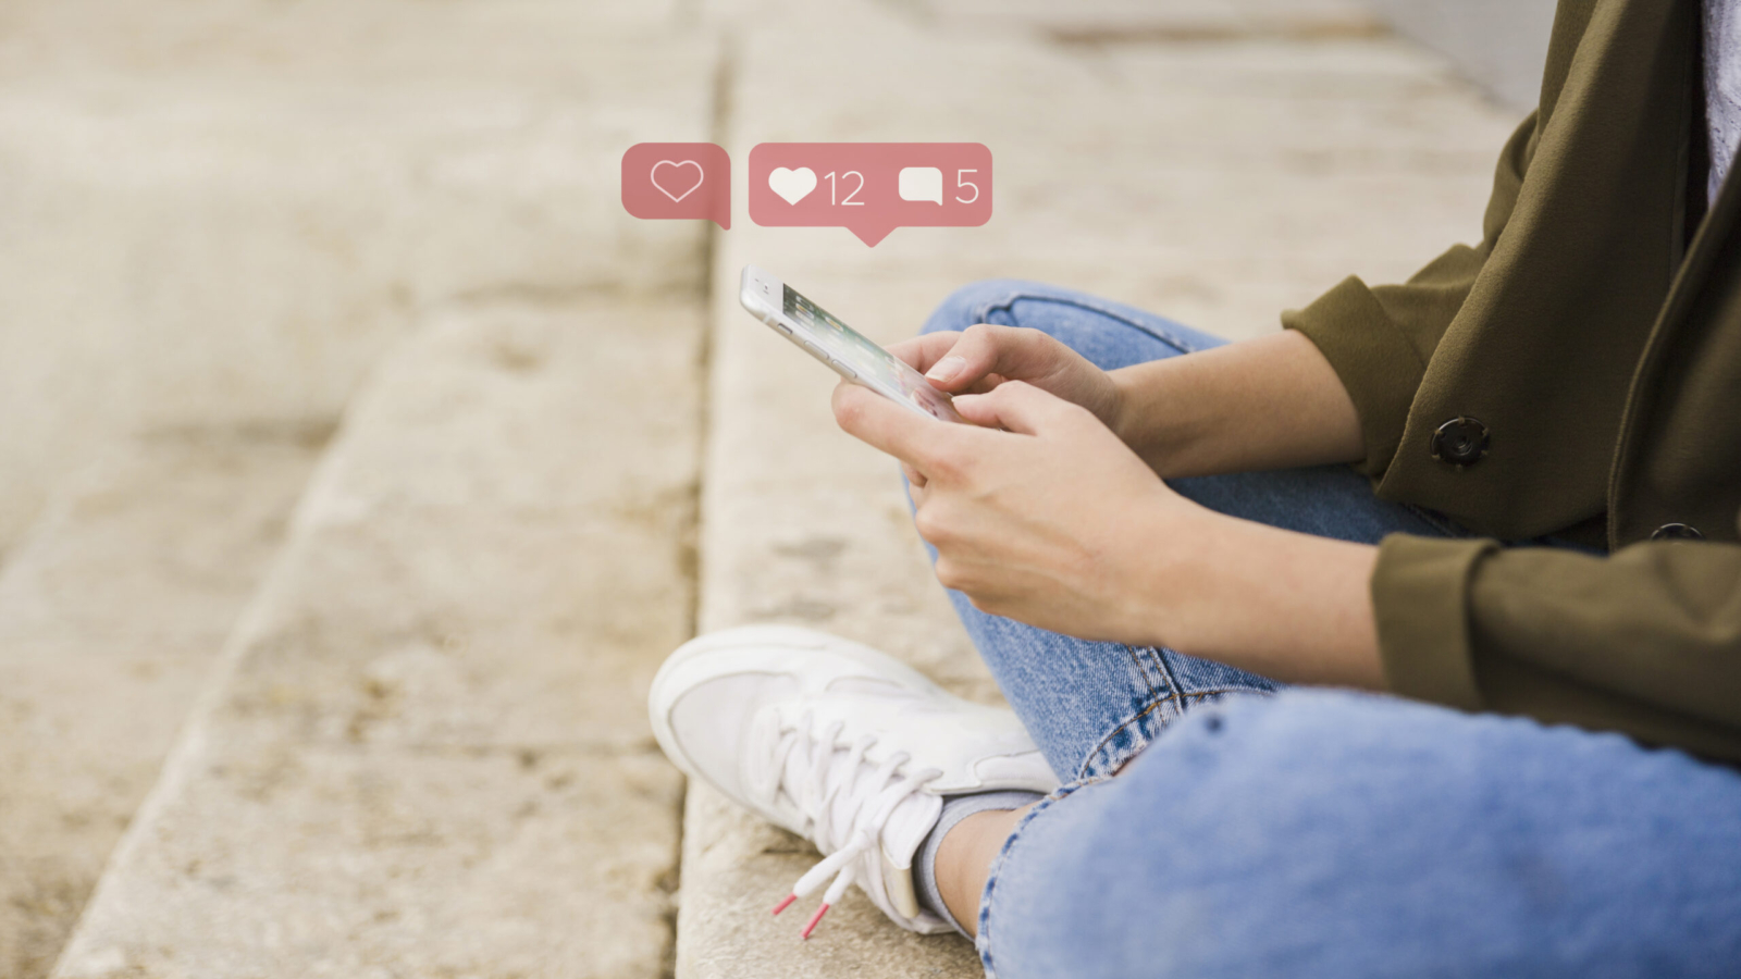
[[1360, 413], [1367, 444], [1361, 472], [1384, 476], [1403, 441], [1403, 425], [1426, 364], [1408, 338], [1391, 322], [1377, 296], [1358, 277], [1348, 277], [1302, 310], [1281, 314], [1281, 326], [1297, 329], [1330, 361], [1335, 376]]

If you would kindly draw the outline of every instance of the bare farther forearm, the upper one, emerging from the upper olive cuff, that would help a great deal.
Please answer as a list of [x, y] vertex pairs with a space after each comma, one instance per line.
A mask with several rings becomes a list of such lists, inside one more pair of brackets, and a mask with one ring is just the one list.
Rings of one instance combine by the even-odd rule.
[[1354, 402], [1306, 336], [1111, 371], [1114, 430], [1163, 477], [1360, 462]]

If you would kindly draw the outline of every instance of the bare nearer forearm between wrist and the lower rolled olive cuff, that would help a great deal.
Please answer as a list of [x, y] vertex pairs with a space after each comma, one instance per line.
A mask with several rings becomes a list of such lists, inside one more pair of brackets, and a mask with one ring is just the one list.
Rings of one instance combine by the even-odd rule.
[[1153, 533], [1173, 544], [1147, 549], [1149, 641], [1283, 683], [1386, 686], [1368, 585], [1375, 547], [1208, 510]]

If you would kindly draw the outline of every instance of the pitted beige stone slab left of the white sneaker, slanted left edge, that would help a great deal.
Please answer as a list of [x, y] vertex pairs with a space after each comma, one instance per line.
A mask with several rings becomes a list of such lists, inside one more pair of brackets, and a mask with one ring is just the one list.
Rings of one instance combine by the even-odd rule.
[[693, 303], [432, 317], [348, 409], [57, 976], [656, 976]]

